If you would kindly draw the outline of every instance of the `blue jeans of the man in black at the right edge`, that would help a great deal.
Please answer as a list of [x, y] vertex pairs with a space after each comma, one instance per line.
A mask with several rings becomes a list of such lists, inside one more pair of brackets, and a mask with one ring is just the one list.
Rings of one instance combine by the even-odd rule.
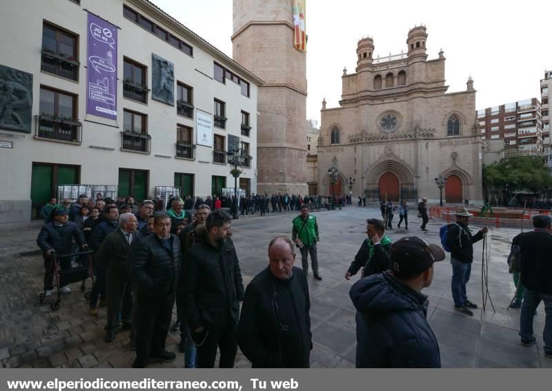
[[520, 317], [520, 337], [523, 341], [533, 341], [533, 317], [540, 301], [544, 302], [544, 312], [546, 318], [544, 320], [544, 352], [552, 354], [552, 294], [544, 294], [535, 292], [524, 287], [522, 313]]

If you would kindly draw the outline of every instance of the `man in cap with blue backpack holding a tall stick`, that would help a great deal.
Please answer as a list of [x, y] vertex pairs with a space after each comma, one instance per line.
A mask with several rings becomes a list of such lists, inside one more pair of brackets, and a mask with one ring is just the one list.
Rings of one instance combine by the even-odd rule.
[[482, 230], [472, 236], [468, 228], [472, 214], [466, 208], [459, 208], [455, 212], [455, 216], [456, 223], [449, 225], [449, 232], [446, 234], [446, 245], [451, 249], [451, 263], [453, 265], [451, 290], [454, 308], [463, 314], [473, 316], [470, 308], [477, 308], [477, 304], [468, 300], [466, 284], [471, 274], [473, 243], [483, 239], [487, 228], [482, 228]]

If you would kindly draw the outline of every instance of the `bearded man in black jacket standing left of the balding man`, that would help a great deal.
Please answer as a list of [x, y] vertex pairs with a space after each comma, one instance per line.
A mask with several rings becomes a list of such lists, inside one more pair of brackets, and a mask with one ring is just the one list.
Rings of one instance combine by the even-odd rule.
[[222, 210], [211, 213], [186, 255], [186, 320], [197, 345], [197, 368], [215, 366], [217, 347], [220, 368], [233, 368], [244, 284], [230, 239], [230, 216]]

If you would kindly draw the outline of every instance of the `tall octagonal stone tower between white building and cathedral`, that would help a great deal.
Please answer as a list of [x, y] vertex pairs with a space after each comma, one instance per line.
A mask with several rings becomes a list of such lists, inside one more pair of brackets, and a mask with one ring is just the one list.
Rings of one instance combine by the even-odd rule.
[[233, 58], [265, 83], [257, 97], [257, 192], [308, 194], [306, 53], [293, 47], [291, 1], [233, 1]]

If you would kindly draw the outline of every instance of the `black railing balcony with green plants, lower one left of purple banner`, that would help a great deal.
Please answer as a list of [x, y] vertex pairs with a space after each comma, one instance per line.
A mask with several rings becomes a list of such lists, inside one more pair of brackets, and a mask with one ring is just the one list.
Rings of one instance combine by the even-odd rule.
[[34, 138], [80, 144], [82, 142], [82, 124], [75, 119], [62, 119], [46, 114], [37, 115]]

